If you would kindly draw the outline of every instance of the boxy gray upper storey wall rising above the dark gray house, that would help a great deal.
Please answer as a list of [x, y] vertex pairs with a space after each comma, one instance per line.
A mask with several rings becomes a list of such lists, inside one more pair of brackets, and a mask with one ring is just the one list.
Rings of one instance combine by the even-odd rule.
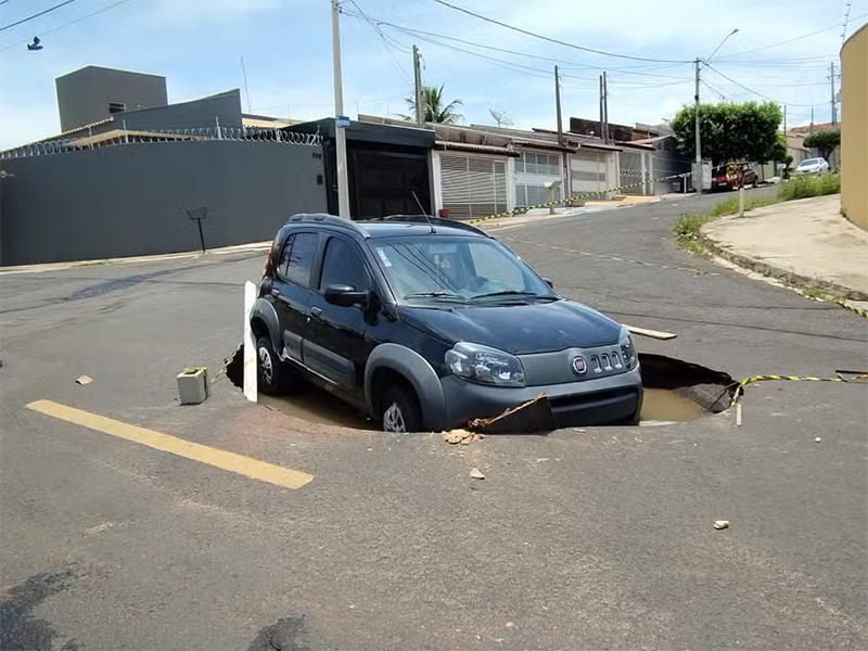
[[110, 102], [124, 102], [128, 111], [168, 103], [166, 78], [156, 75], [90, 65], [58, 77], [54, 85], [62, 131], [108, 117]]

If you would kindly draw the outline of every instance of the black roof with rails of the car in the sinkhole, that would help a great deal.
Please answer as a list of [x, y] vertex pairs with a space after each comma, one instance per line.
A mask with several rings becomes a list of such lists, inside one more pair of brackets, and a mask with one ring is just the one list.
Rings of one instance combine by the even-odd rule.
[[286, 221], [291, 226], [326, 226], [344, 229], [365, 239], [414, 237], [414, 235], [462, 235], [488, 238], [489, 235], [462, 221], [430, 217], [426, 215], [392, 215], [380, 219], [353, 221], [335, 215], [310, 213], [293, 215]]

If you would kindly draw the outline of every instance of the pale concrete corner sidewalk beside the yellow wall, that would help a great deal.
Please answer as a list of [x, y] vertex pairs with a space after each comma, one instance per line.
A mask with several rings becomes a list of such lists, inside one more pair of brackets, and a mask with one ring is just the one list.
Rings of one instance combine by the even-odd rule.
[[703, 227], [724, 257], [777, 278], [801, 277], [842, 297], [868, 299], [868, 232], [840, 214], [841, 195], [788, 201]]

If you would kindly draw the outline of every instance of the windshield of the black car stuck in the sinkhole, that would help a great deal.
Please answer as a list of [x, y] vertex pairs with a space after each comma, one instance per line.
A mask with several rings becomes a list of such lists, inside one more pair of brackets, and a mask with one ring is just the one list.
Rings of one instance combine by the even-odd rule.
[[495, 240], [425, 234], [372, 240], [370, 245], [399, 302], [557, 299], [542, 279]]

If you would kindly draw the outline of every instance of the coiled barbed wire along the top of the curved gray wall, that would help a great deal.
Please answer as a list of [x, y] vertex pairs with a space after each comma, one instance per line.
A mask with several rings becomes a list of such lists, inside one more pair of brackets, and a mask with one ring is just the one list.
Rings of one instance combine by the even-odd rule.
[[146, 142], [191, 142], [202, 140], [229, 140], [234, 142], [277, 142], [282, 144], [297, 144], [304, 146], [319, 146], [322, 137], [319, 133], [299, 133], [297, 131], [282, 131], [280, 129], [250, 128], [250, 127], [208, 127], [199, 129], [148, 129], [126, 130], [118, 129], [111, 138], [99, 139], [98, 136], [84, 136], [64, 140], [48, 140], [34, 142], [18, 148], [0, 152], [0, 159], [22, 158], [25, 156], [43, 156], [48, 154], [63, 154], [84, 150], [116, 146], [120, 144]]

